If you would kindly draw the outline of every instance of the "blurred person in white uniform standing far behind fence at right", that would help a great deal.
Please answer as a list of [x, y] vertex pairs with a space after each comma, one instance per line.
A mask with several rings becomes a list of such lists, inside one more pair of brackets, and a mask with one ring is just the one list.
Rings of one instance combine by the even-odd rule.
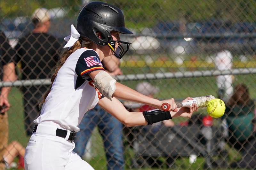
[[[220, 52], [216, 54], [214, 64], [217, 70], [231, 70], [233, 55], [220, 44]], [[218, 95], [221, 100], [227, 101], [233, 93], [233, 75], [217, 76]]]

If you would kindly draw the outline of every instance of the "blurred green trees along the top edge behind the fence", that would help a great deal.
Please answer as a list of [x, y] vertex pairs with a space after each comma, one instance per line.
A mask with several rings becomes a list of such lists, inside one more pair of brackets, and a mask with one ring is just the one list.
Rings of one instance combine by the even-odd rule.
[[[8, 0], [0, 1], [0, 17], [30, 16], [38, 7], [61, 7], [68, 11], [69, 18], [76, 18], [87, 1], [83, 0]], [[151, 27], [159, 21], [179, 20], [188, 22], [219, 18], [237, 21], [255, 21], [254, 0], [108, 0], [124, 11], [126, 25], [132, 28]], [[188, 16], [189, 15], [189, 16]]]

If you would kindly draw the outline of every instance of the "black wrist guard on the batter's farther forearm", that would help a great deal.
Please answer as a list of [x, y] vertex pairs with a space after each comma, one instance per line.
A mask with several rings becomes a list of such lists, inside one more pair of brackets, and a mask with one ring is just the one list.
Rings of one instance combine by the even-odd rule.
[[169, 111], [162, 111], [158, 109], [144, 111], [143, 116], [145, 117], [148, 124], [172, 119], [171, 113]]

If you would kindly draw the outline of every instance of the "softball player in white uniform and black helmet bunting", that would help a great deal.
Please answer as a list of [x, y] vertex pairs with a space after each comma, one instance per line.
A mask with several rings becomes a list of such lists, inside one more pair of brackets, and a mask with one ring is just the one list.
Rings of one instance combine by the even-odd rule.
[[[64, 48], [68, 49], [52, 76], [51, 89], [44, 95], [41, 115], [34, 121], [24, 158], [26, 170], [93, 169], [73, 152], [73, 140], [84, 114], [97, 103], [126, 126], [190, 117], [197, 109], [194, 105], [177, 109], [173, 99], [159, 101], [116, 82], [101, 61], [113, 54], [120, 59], [128, 51], [131, 43], [120, 41], [120, 33], [132, 34], [124, 26], [122, 11], [113, 5], [92, 2], [79, 13], [76, 28], [71, 25], [71, 35], [65, 38], [68, 42]], [[167, 102], [171, 112], [131, 113], [116, 98], [158, 109]]]

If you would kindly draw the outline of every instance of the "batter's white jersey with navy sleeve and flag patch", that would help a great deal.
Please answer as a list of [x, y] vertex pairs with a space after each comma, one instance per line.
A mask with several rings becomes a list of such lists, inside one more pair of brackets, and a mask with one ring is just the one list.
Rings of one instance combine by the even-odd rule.
[[58, 71], [41, 114], [34, 123], [79, 131], [78, 125], [84, 114], [102, 97], [88, 76], [94, 70], [104, 70], [94, 50], [80, 48], [72, 53]]

